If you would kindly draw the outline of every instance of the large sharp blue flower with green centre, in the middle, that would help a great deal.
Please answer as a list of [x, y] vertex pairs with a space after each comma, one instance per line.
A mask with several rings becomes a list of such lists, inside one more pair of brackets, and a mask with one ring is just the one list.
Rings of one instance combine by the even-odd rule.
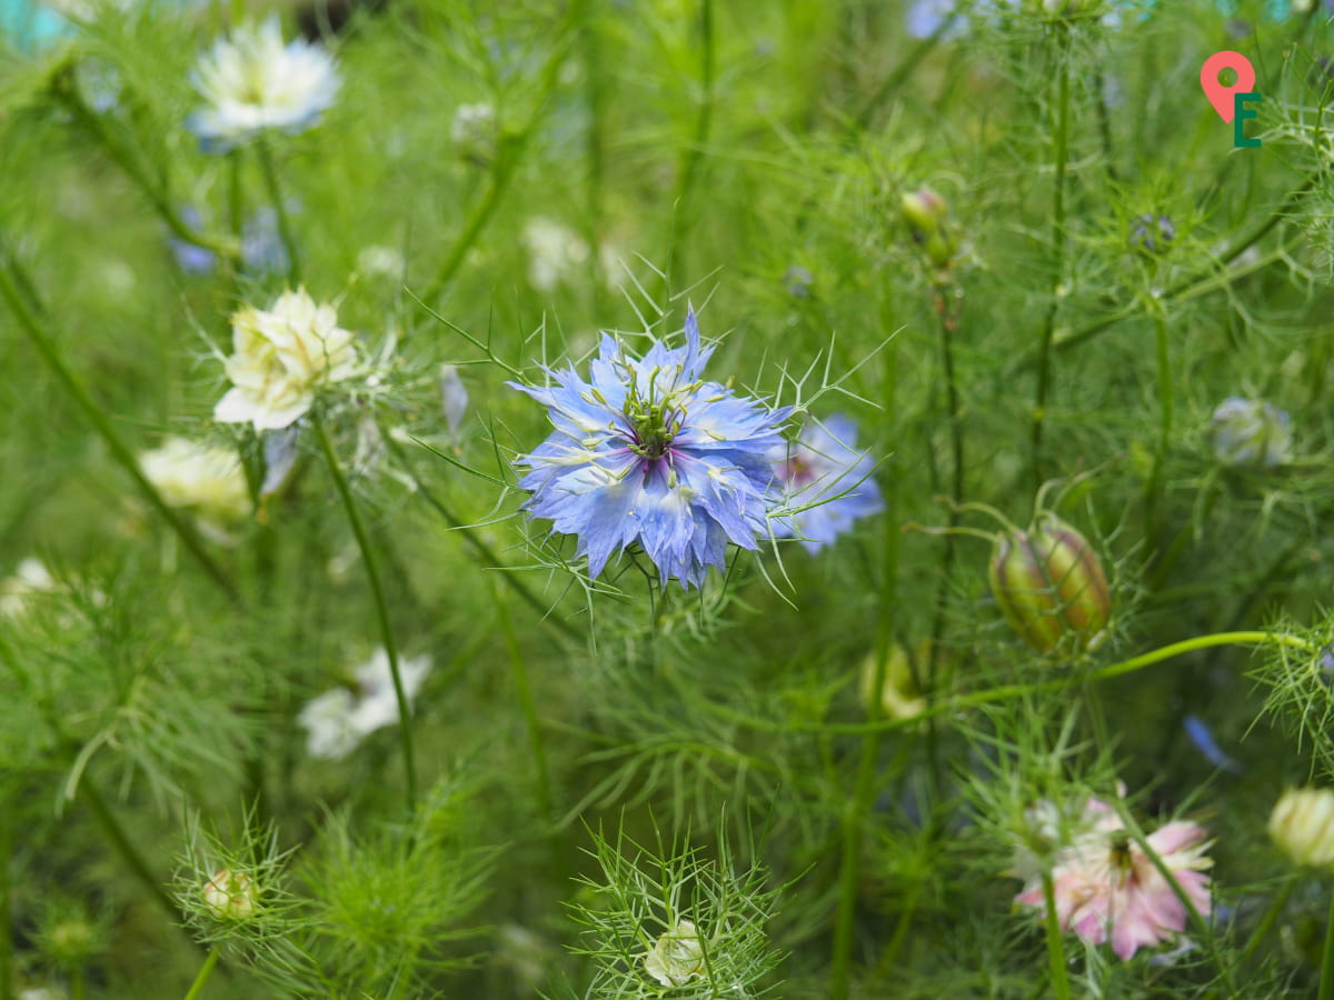
[[511, 387], [548, 408], [555, 432], [516, 460], [531, 469], [526, 509], [552, 531], [579, 537], [588, 573], [638, 544], [667, 580], [700, 587], [723, 569], [727, 543], [758, 548], [767, 535], [772, 469], [791, 407], [756, 400], [700, 377], [712, 348], [700, 345], [694, 309], [686, 345], [662, 341], [632, 357], [603, 335], [584, 381], [571, 365], [546, 369], [546, 387]]

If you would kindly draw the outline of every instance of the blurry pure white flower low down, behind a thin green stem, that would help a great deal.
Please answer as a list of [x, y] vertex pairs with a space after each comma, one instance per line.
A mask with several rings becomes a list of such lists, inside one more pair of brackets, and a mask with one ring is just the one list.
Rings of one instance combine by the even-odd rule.
[[[431, 671], [431, 657], [399, 659], [403, 692], [411, 703]], [[342, 760], [376, 729], [399, 721], [399, 703], [394, 693], [390, 655], [376, 649], [368, 661], [354, 672], [354, 688], [334, 688], [312, 699], [297, 721], [305, 728], [305, 749], [312, 757]]]

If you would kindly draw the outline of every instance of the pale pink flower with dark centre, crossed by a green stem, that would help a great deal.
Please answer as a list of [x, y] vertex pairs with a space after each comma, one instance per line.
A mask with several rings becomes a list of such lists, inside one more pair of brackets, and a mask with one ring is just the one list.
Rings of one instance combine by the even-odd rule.
[[[1057, 855], [1051, 869], [1061, 927], [1091, 944], [1110, 939], [1121, 959], [1185, 931], [1186, 907], [1125, 829], [1117, 811], [1101, 799], [1090, 799], [1085, 819], [1089, 827]], [[1198, 823], [1175, 821], [1147, 837], [1149, 847], [1201, 916], [1210, 911], [1205, 872], [1214, 864], [1205, 857], [1206, 836]], [[1041, 877], [1031, 877], [1015, 901], [1042, 909]]]

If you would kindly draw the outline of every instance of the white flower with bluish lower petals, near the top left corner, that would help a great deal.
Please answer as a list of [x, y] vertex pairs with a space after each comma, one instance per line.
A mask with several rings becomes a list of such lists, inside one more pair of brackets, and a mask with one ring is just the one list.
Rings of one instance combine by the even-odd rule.
[[301, 39], [283, 44], [277, 17], [219, 39], [191, 75], [205, 107], [185, 123], [208, 152], [227, 152], [276, 128], [313, 125], [334, 103], [334, 57]]

